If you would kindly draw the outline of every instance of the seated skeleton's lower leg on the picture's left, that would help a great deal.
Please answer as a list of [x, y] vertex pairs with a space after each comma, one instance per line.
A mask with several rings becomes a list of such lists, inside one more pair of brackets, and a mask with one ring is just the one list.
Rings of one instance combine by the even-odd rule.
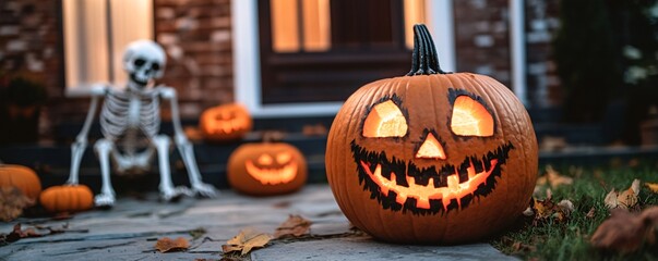
[[94, 149], [98, 154], [100, 161], [100, 175], [103, 178], [103, 185], [100, 187], [100, 194], [96, 195], [94, 202], [97, 207], [112, 207], [115, 204], [115, 190], [110, 182], [110, 153], [113, 150], [112, 141], [108, 139], [99, 139], [94, 145]]

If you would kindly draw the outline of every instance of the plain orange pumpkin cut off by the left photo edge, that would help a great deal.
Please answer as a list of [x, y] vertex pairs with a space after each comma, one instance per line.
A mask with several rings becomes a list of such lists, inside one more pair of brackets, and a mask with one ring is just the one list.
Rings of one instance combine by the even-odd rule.
[[0, 187], [16, 187], [23, 195], [35, 200], [41, 192], [39, 176], [23, 165], [0, 164]]

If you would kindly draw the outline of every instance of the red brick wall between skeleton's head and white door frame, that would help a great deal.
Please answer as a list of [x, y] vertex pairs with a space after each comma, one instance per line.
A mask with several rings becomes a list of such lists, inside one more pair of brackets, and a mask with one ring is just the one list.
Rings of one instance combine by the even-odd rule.
[[230, 0], [155, 0], [155, 38], [167, 51], [161, 82], [181, 115], [234, 100]]

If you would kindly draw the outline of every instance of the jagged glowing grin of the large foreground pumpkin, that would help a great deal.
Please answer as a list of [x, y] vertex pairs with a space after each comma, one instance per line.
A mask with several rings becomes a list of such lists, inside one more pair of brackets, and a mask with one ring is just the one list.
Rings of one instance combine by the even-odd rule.
[[482, 156], [466, 157], [462, 163], [419, 167], [415, 161], [369, 151], [351, 141], [359, 184], [383, 209], [434, 214], [467, 208], [493, 191], [502, 176], [512, 142]]

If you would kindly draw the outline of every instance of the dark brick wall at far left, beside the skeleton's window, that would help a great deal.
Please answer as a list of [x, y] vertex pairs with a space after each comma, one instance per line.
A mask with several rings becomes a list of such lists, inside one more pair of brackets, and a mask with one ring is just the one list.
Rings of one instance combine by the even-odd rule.
[[[60, 1], [0, 1], [0, 76], [23, 75], [43, 83], [50, 108], [63, 94], [60, 41]], [[40, 133], [51, 125], [49, 110], [40, 114]]]

